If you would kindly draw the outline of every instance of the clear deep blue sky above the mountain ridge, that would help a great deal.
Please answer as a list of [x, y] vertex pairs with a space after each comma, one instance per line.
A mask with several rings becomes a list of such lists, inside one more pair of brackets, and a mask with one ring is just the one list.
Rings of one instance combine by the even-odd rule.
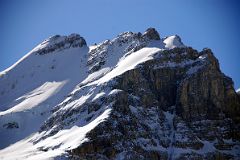
[[51, 35], [79, 33], [88, 44], [156, 28], [195, 49], [209, 47], [240, 87], [238, 0], [0, 0], [0, 70]]

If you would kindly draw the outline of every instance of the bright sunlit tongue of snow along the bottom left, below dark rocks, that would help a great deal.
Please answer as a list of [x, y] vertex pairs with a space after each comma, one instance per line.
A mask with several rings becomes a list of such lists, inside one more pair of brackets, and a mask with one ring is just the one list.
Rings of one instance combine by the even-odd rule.
[[[106, 110], [89, 124], [78, 127], [73, 126], [70, 129], [64, 129], [57, 134], [34, 144], [34, 139], [38, 139], [44, 133], [35, 133], [34, 135], [21, 140], [3, 150], [0, 150], [0, 159], [15, 160], [41, 160], [50, 159], [64, 154], [67, 150], [78, 147], [88, 139], [86, 134], [103, 122], [110, 114], [111, 109]], [[44, 150], [44, 151], [41, 151]]]

